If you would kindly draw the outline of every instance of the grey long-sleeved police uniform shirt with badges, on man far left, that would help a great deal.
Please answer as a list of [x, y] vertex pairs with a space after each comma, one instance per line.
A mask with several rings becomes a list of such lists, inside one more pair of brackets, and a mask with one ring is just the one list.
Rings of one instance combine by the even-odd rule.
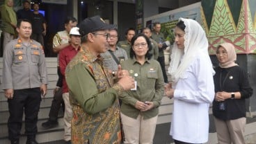
[[13, 39], [3, 54], [3, 89], [30, 89], [47, 84], [47, 68], [42, 46]]

